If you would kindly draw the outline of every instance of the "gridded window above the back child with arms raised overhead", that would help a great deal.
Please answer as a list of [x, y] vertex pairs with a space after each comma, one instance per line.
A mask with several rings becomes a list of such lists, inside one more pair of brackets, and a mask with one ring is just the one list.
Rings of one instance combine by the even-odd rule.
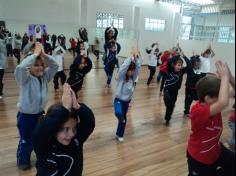
[[97, 28], [114, 26], [117, 29], [124, 28], [124, 16], [112, 13], [97, 13]]

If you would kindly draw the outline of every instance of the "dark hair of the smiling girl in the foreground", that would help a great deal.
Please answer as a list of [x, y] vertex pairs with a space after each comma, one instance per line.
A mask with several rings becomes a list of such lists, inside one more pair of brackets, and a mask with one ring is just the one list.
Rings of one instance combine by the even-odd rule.
[[[62, 109], [64, 109], [62, 103], [56, 103], [48, 108], [46, 117], [49, 118], [57, 118], [57, 124], [55, 126], [57, 127], [56, 133], [60, 131], [60, 129], [63, 127], [63, 125], [69, 120], [69, 119], [75, 119], [78, 121], [78, 116], [75, 113], [75, 110], [68, 111], [67, 114], [63, 115], [56, 115], [58, 112], [60, 112]], [[54, 134], [56, 135], [56, 134]]]

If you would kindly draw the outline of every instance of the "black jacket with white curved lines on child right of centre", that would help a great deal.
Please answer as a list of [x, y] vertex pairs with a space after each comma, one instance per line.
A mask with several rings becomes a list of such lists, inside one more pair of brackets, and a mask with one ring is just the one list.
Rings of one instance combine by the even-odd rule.
[[[168, 89], [176, 92], [181, 88], [183, 75], [187, 73], [187, 67], [182, 68], [180, 72], [175, 72], [173, 64], [179, 59], [180, 56], [175, 56], [169, 61], [167, 65], [168, 75], [165, 82], [165, 90]], [[184, 57], [184, 60], [187, 62], [188, 58]]]

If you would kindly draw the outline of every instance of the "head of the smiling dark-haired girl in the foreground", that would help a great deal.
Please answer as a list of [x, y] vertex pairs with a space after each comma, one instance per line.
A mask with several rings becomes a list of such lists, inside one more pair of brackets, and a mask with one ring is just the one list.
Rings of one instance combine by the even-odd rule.
[[55, 104], [48, 109], [46, 116], [56, 119], [54, 127], [56, 128], [55, 139], [57, 142], [64, 146], [68, 146], [77, 134], [77, 124], [79, 118], [73, 110], [66, 114], [58, 115], [57, 113], [61, 109], [63, 109], [62, 104]]

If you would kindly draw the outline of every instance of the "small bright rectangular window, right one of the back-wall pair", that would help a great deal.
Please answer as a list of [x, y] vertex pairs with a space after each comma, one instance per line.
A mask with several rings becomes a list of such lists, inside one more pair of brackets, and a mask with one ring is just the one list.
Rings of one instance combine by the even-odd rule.
[[160, 31], [164, 32], [166, 28], [166, 20], [145, 18], [146, 31]]

